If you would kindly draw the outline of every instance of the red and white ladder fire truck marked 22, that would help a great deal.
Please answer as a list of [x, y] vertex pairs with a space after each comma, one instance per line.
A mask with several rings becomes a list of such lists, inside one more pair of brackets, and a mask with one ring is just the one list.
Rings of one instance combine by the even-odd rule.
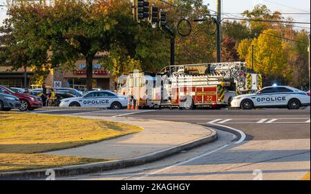
[[120, 77], [118, 93], [129, 96], [128, 108], [230, 105], [236, 95], [262, 88], [260, 74], [247, 71], [243, 62], [167, 66], [158, 73], [131, 72]]

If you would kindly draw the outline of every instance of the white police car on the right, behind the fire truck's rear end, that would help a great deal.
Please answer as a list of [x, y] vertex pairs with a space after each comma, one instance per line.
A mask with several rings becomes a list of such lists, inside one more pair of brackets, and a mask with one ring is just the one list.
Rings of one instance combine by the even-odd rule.
[[310, 93], [290, 86], [270, 86], [255, 94], [234, 97], [231, 106], [243, 110], [261, 107], [299, 109], [301, 106], [310, 106]]

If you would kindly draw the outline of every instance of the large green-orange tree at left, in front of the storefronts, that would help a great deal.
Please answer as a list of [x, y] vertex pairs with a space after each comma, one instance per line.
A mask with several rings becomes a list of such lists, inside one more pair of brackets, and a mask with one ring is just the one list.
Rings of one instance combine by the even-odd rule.
[[[163, 33], [148, 33], [150, 26], [133, 21], [128, 0], [8, 1], [8, 16], [1, 30], [6, 36], [1, 43], [6, 45], [0, 54], [3, 59], [26, 57], [30, 66], [44, 69], [73, 66], [84, 59], [88, 90], [92, 88], [93, 59], [99, 52], [109, 53], [109, 63], [104, 65], [115, 76], [133, 68], [165, 64], [167, 51], [160, 50], [157, 43], [164, 39]], [[8, 65], [15, 63], [10, 60]]]

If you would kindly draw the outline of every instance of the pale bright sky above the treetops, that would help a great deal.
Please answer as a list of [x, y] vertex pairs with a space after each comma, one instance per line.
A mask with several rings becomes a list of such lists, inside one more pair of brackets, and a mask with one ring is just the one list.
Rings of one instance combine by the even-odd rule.
[[[292, 17], [294, 21], [310, 23], [310, 0], [222, 0], [224, 13], [230, 17], [238, 17], [245, 10], [252, 10], [257, 4], [265, 4], [272, 12], [279, 11], [283, 13], [309, 13], [309, 14], [284, 14], [286, 17]], [[4, 5], [6, 0], [0, 0], [0, 5]], [[209, 3], [209, 9], [216, 10], [217, 0], [204, 0], [205, 4]], [[226, 15], [223, 15], [226, 17]], [[6, 18], [6, 8], [0, 7], [0, 22]], [[310, 28], [310, 24], [297, 24], [296, 26], [303, 26]], [[308, 29], [310, 31], [310, 29]]]

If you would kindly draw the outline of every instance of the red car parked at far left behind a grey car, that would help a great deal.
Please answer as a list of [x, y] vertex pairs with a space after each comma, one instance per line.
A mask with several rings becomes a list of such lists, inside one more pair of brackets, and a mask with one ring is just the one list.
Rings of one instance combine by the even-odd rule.
[[0, 93], [14, 95], [18, 97], [21, 101], [21, 106], [19, 106], [19, 110], [35, 110], [36, 108], [42, 107], [42, 101], [40, 97], [28, 95], [26, 93], [19, 93], [18, 90], [14, 90], [6, 86], [0, 86]]

